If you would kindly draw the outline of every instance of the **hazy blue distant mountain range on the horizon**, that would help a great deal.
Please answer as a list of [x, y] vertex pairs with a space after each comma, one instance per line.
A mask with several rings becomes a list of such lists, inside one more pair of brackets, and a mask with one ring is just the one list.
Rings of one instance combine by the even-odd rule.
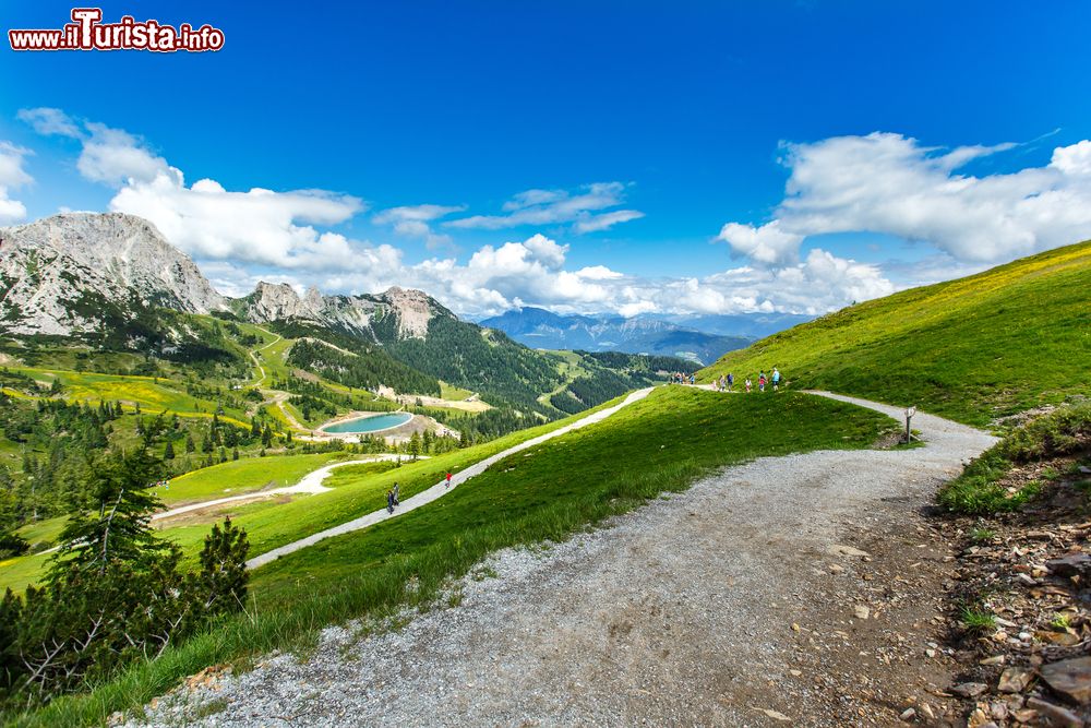
[[791, 314], [699, 317], [560, 315], [526, 307], [480, 321], [520, 344], [541, 349], [624, 351], [676, 356], [709, 363], [728, 351], [807, 321]]

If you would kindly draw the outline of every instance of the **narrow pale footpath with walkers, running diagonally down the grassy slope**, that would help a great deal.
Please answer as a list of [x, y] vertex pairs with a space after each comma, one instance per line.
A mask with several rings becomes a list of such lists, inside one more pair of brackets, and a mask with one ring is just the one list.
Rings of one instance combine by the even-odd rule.
[[470, 465], [469, 467], [453, 474], [451, 477], [449, 487], [447, 486], [447, 482], [445, 480], [441, 480], [440, 482], [435, 484], [428, 490], [423, 490], [413, 496], [412, 498], [407, 498], [406, 500], [401, 501], [401, 504], [398, 505], [398, 509], [394, 513], [388, 513], [386, 509], [381, 509], [379, 511], [374, 511], [367, 515], [360, 516], [359, 518], [356, 518], [353, 521], [343, 523], [339, 526], [334, 526], [333, 528], [320, 530], [319, 533], [312, 534], [307, 538], [301, 538], [298, 541], [292, 541], [291, 544], [286, 544], [279, 548], [273, 549], [272, 551], [266, 551], [265, 553], [256, 556], [250, 561], [248, 561], [247, 569], [257, 569], [259, 566], [267, 564], [271, 561], [274, 561], [275, 559], [279, 559], [280, 557], [287, 553], [292, 553], [300, 549], [305, 549], [308, 546], [314, 546], [321, 540], [333, 538], [334, 536], [350, 534], [353, 530], [360, 530], [361, 528], [373, 526], [376, 523], [382, 523], [383, 521], [386, 521], [388, 518], [396, 518], [403, 513], [408, 513], [409, 511], [419, 509], [422, 505], [428, 505], [432, 501], [443, 498], [445, 493], [451, 492], [456, 487], [466, 482], [470, 478], [481, 475], [482, 473], [488, 470], [490, 466], [492, 466], [495, 463], [499, 463], [505, 457], [514, 455], [515, 453], [523, 452], [524, 450], [529, 450], [530, 447], [540, 445], [541, 443], [548, 442], [549, 440], [552, 440], [554, 438], [560, 438], [561, 435], [572, 432], [573, 430], [578, 430], [589, 425], [601, 422], [602, 420], [610, 417], [618, 410], [622, 409], [623, 407], [627, 407], [634, 402], [639, 402], [640, 399], [648, 396], [648, 394], [650, 393], [651, 393], [651, 387], [645, 390], [638, 390], [630, 394], [627, 397], [625, 397], [624, 401], [622, 401], [620, 404], [614, 405], [613, 407], [607, 407], [606, 409], [600, 409], [599, 411], [588, 415], [583, 419], [576, 420], [571, 425], [565, 425], [564, 427], [553, 430], [552, 432], [547, 432], [546, 434], [540, 434], [537, 438], [532, 438], [525, 442], [520, 442], [517, 445], [513, 445], [507, 450], [503, 450], [496, 453], [495, 455], [491, 455], [484, 458], [483, 461], [475, 463], [473, 465]]

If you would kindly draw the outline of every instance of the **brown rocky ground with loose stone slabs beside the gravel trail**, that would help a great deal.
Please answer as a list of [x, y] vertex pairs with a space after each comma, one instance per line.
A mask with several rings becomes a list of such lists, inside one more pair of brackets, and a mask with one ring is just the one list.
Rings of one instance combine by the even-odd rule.
[[958, 553], [951, 692], [972, 728], [1091, 721], [1091, 460], [1027, 465], [1004, 485], [1028, 482], [1041, 493], [1017, 513], [940, 522]]

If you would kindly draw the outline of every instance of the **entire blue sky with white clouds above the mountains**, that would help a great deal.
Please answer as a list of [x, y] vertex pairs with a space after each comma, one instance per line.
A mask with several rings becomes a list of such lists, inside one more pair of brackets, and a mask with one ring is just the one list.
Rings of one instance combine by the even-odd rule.
[[141, 213], [226, 293], [470, 315], [820, 312], [1091, 237], [1084, 2], [241, 5], [101, 3], [215, 53], [0, 50], [4, 222]]

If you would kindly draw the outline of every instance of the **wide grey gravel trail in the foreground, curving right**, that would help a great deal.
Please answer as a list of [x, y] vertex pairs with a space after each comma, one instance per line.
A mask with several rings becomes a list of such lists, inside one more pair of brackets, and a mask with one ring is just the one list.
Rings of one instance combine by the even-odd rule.
[[920, 511], [995, 440], [923, 413], [913, 425], [923, 447], [759, 458], [564, 544], [500, 551], [453, 587], [457, 606], [369, 636], [328, 628], [303, 659], [191, 680], [140, 718], [954, 725], [937, 644], [951, 565]]

